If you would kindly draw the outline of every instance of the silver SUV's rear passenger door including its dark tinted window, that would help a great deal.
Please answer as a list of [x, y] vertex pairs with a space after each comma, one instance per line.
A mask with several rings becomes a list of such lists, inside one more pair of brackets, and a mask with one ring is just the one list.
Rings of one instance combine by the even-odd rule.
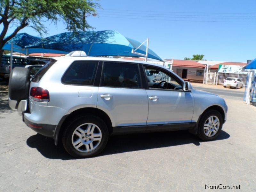
[[148, 98], [139, 64], [103, 62], [97, 108], [108, 114], [114, 127], [147, 124]]

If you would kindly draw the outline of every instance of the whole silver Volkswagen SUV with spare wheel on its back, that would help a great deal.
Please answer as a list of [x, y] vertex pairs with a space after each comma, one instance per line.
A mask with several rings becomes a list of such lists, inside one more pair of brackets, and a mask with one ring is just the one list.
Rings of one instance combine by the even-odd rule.
[[14, 68], [9, 105], [74, 157], [99, 154], [116, 134], [189, 130], [214, 140], [228, 110], [224, 99], [162, 66], [99, 57], [55, 57], [32, 79]]

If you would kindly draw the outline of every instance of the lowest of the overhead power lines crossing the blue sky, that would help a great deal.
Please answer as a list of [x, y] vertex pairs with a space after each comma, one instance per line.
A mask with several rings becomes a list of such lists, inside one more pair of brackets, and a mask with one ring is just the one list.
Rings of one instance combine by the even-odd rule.
[[167, 19], [128, 18], [128, 17], [111, 17], [111, 16], [102, 16], [102, 17], [107, 17], [107, 18], [117, 18], [117, 19], [161, 20], [161, 21], [184, 21], [184, 22], [256, 23], [256, 21], [204, 21], [204, 20], [167, 20]]

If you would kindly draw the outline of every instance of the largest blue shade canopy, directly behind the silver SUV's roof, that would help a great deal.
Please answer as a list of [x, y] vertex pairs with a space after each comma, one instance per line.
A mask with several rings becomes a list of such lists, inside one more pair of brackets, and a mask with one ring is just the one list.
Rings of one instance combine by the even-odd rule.
[[[29, 44], [26, 48], [46, 48], [60, 51], [84, 51], [88, 56], [129, 56], [138, 57], [132, 49], [140, 42], [124, 37], [114, 30], [66, 32], [46, 37], [41, 41]], [[136, 52], [145, 54], [146, 46], [142, 45]], [[155, 52], [148, 49], [148, 58], [163, 61]]]

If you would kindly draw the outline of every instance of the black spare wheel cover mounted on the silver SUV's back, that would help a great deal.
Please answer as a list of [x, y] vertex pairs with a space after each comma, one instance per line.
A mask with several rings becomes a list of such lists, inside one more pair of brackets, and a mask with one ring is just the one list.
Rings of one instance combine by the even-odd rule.
[[9, 78], [9, 98], [16, 100], [18, 108], [19, 102], [28, 99], [30, 75], [28, 68], [15, 67]]

